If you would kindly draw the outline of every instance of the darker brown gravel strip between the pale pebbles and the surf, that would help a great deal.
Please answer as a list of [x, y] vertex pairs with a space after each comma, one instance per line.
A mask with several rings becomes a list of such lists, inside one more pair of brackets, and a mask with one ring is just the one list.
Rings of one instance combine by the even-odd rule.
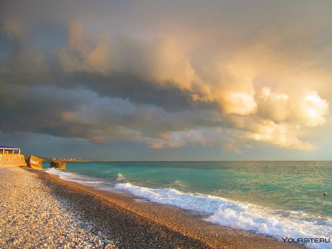
[[[112, 214], [116, 213], [127, 222], [129, 219], [126, 226], [134, 227], [129, 232], [130, 236], [126, 230], [117, 233], [124, 248], [144, 248], [141, 247], [143, 242], [137, 240], [142, 236], [142, 227], [145, 230], [143, 241], [144, 246], [148, 246], [146, 248], [305, 248], [304, 245], [284, 243], [270, 236], [209, 223], [196, 212], [144, 201], [118, 191], [62, 180], [44, 171], [27, 167], [24, 169], [36, 173], [56, 195], [65, 197], [69, 202], [75, 199], [75, 205], [80, 207], [82, 215], [89, 219], [93, 217], [95, 220], [103, 220], [98, 224], [102, 229], [114, 230], [115, 226], [111, 224], [119, 223]], [[95, 211], [92, 213], [91, 209]], [[120, 223], [124, 224], [123, 221]], [[154, 234], [152, 237], [162, 238], [162, 241], [151, 241], [148, 235], [151, 233]], [[130, 237], [136, 237], [135, 241], [132, 242]]]

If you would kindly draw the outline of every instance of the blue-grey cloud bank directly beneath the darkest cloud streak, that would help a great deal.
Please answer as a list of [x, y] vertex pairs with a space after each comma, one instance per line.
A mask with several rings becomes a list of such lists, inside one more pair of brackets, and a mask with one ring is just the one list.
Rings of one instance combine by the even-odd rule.
[[165, 130], [220, 124], [215, 111], [168, 113], [155, 105], [136, 106], [121, 98], [101, 97], [90, 90], [54, 85], [2, 84], [0, 105], [3, 131], [82, 137], [98, 142], [140, 140], [144, 135], [156, 138], [158, 132]]

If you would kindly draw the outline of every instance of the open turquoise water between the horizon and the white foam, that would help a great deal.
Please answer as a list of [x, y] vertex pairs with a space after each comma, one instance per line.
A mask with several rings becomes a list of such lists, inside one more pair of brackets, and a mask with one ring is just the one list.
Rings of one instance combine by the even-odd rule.
[[[63, 171], [111, 183], [121, 173], [137, 186], [175, 188], [332, 217], [331, 161], [67, 162]], [[324, 197], [323, 192], [331, 194]]]

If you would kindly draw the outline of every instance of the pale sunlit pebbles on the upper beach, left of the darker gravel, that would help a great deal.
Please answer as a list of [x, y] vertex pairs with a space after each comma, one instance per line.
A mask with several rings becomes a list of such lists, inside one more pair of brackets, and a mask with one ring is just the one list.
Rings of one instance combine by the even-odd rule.
[[82, 219], [34, 173], [0, 167], [0, 249], [115, 248], [111, 238]]

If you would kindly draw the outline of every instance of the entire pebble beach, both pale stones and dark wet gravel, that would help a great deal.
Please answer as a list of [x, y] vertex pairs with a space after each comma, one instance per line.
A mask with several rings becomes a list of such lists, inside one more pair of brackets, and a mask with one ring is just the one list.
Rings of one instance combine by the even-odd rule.
[[0, 167], [0, 186], [1, 249], [299, 248], [26, 167]]

